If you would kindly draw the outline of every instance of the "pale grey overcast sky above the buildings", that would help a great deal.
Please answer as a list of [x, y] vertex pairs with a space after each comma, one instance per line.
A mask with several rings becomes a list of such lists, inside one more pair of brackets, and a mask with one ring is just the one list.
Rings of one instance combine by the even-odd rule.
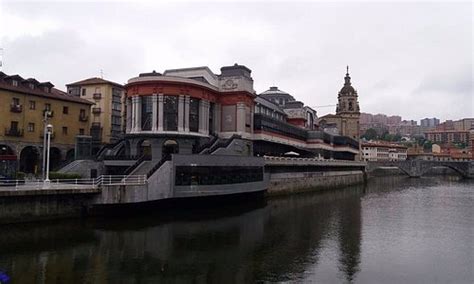
[[473, 5], [371, 2], [19, 2], [0, 0], [3, 71], [65, 84], [239, 63], [318, 115], [346, 65], [362, 112], [474, 117]]

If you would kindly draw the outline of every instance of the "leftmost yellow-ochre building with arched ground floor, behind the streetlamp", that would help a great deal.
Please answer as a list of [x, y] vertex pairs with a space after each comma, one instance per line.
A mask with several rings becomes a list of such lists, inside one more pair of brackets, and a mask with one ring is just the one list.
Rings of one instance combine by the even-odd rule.
[[[76, 136], [89, 135], [91, 103], [53, 87], [0, 72], [0, 162], [18, 161], [22, 172], [41, 172], [45, 111], [54, 128], [51, 169], [74, 159]], [[6, 170], [0, 165], [0, 175]]]

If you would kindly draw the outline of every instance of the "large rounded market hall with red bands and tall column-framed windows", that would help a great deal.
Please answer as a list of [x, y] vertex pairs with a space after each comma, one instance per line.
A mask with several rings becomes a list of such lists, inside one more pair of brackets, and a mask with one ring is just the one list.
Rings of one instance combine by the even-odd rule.
[[[227, 147], [241, 156], [354, 160], [358, 154], [354, 139], [317, 130], [316, 112], [303, 103], [289, 98], [280, 105], [257, 96], [251, 70], [243, 65], [224, 66], [221, 74], [208, 67], [142, 73], [125, 89], [125, 137], [99, 153], [114, 160], [109, 164], [130, 165], [117, 161], [121, 157], [229, 154]], [[142, 170], [152, 165], [144, 163]]]

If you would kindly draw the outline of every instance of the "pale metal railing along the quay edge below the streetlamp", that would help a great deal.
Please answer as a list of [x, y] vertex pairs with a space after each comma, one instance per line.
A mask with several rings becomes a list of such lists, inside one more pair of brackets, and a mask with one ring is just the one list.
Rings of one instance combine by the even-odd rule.
[[78, 179], [52, 179], [45, 186], [43, 180], [0, 180], [0, 191], [31, 190], [31, 189], [95, 189], [115, 185], [144, 185], [147, 183], [146, 175], [102, 175], [98, 178]]

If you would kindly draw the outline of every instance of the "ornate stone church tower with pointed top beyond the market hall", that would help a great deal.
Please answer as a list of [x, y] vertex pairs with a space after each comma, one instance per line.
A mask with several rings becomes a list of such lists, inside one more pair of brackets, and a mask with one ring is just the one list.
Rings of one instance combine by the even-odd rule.
[[359, 141], [359, 101], [357, 100], [357, 91], [351, 85], [349, 66], [347, 66], [346, 77], [344, 77], [344, 86], [339, 91], [337, 98], [336, 115], [341, 118], [341, 135]]

